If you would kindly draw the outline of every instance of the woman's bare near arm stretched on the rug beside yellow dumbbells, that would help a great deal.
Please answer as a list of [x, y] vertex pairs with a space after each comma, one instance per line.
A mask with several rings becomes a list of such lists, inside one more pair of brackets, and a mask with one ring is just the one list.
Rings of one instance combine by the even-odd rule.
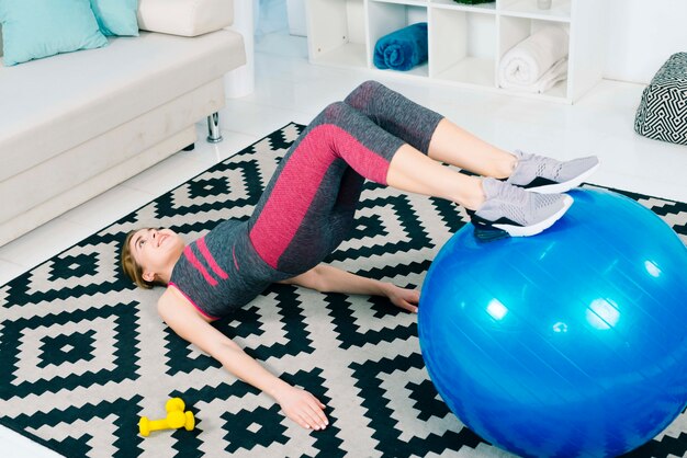
[[158, 301], [158, 313], [182, 339], [217, 359], [243, 381], [271, 396], [284, 414], [305, 428], [324, 430], [325, 405], [313, 394], [293, 387], [262, 367], [241, 347], [205, 321], [189, 301], [168, 289]]

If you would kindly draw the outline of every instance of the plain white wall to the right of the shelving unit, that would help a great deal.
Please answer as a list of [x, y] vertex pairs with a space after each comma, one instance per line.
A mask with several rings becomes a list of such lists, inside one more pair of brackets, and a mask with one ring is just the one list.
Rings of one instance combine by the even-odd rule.
[[647, 83], [674, 53], [687, 53], [687, 0], [608, 1], [604, 78]]

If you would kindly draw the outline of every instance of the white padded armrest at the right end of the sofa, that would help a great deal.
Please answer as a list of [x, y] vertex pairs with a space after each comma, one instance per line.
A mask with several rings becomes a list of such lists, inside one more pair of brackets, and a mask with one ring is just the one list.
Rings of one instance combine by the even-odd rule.
[[[241, 0], [245, 1], [245, 0]], [[232, 25], [227, 0], [140, 0], [138, 26], [144, 31], [198, 36]]]

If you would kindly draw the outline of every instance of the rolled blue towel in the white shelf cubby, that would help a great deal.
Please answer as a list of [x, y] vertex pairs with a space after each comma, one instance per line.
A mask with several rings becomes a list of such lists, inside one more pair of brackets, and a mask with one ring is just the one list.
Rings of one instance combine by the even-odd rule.
[[427, 61], [427, 23], [418, 22], [381, 37], [374, 45], [376, 68], [407, 71]]

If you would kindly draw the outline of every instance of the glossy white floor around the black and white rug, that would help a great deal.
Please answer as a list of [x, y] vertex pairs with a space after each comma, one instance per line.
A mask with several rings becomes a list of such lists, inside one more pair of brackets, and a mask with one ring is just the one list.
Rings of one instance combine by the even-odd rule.
[[[227, 100], [224, 142], [206, 144], [199, 125], [194, 151], [179, 152], [98, 198], [0, 248], [0, 285], [183, 183], [210, 165], [291, 121], [307, 124], [326, 104], [358, 83], [376, 79], [429, 106], [485, 140], [555, 158], [597, 154], [590, 182], [687, 202], [687, 147], [650, 140], [633, 131], [643, 85], [604, 81], [576, 104], [563, 105], [492, 92], [461, 90], [363, 70], [315, 67], [305, 38], [278, 33], [256, 43], [256, 91]], [[54, 453], [0, 427], [5, 457]], [[9, 454], [9, 455], [8, 455]]]

